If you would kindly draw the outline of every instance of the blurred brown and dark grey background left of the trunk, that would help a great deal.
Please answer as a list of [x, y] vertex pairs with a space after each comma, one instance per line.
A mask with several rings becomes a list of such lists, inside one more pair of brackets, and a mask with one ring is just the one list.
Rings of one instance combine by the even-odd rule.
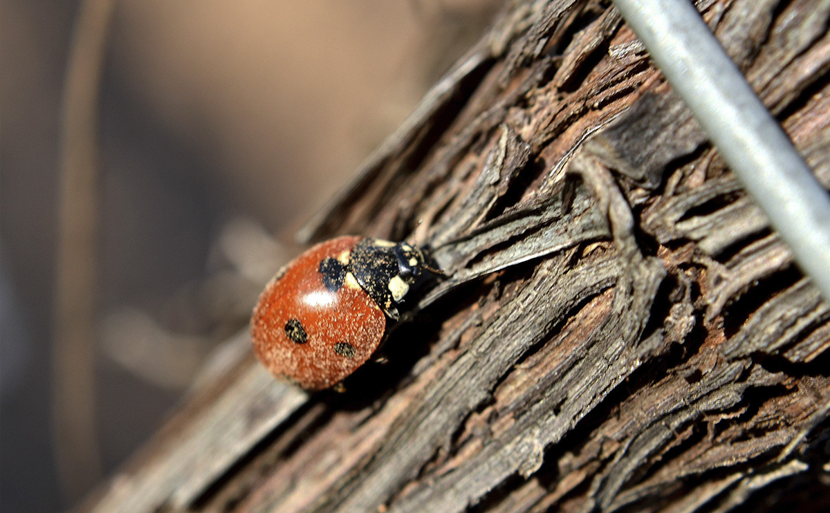
[[0, 0], [0, 511], [70, 507], [159, 428], [499, 3]]

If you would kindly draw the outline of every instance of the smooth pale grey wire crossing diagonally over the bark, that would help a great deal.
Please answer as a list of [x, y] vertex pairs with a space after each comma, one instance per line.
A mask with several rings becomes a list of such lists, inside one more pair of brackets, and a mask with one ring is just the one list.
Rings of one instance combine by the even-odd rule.
[[830, 300], [830, 196], [689, 0], [614, 0], [798, 266]]

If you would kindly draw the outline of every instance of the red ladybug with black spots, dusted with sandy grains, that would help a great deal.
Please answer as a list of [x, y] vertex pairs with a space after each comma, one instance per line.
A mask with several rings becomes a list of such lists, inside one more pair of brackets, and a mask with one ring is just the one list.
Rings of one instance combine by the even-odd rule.
[[251, 316], [256, 356], [271, 374], [320, 390], [368, 360], [432, 270], [406, 242], [337, 237], [283, 267]]

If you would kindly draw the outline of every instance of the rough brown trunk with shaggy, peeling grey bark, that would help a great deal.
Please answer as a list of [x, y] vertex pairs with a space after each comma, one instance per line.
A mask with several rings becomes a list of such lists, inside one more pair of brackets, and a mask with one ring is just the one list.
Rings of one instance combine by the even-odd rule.
[[[830, 2], [696, 4], [830, 186]], [[450, 276], [389, 363], [245, 360], [85, 511], [830, 506], [828, 305], [605, 2], [510, 2], [301, 235], [343, 232]]]

